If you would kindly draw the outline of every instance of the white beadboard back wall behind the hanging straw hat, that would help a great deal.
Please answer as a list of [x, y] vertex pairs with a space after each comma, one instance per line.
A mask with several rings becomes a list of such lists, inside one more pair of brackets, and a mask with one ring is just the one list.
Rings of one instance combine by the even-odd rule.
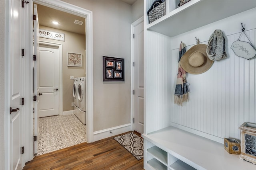
[[[256, 29], [246, 31], [255, 44]], [[230, 49], [240, 33], [226, 36], [227, 59], [215, 61], [202, 74], [187, 74], [190, 101], [184, 106], [172, 104], [171, 121], [216, 137], [240, 139], [238, 127], [244, 122], [256, 123], [256, 59], [238, 57]], [[248, 41], [241, 35], [241, 41]], [[208, 42], [204, 42], [207, 44]], [[190, 49], [194, 45], [186, 46]], [[178, 62], [178, 49], [172, 50], [172, 64]], [[172, 72], [177, 72], [173, 64]], [[174, 94], [176, 79], [172, 80]], [[174, 103], [174, 99], [172, 98]]]

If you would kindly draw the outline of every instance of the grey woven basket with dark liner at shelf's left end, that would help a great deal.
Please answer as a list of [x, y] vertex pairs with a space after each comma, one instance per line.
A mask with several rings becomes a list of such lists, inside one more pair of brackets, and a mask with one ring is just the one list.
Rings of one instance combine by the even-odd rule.
[[[158, 3], [159, 5], [154, 8], [156, 3]], [[165, 15], [165, 1], [162, 3], [156, 3], [154, 4], [153, 9], [148, 13], [149, 23], [152, 23], [153, 21]]]

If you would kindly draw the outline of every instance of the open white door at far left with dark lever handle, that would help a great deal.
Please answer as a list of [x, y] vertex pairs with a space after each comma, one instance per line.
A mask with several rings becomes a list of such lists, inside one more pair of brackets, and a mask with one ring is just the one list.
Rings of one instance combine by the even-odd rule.
[[[9, 3], [9, 2], [6, 2]], [[10, 62], [10, 169], [22, 169], [22, 92], [24, 90], [24, 58], [22, 44], [24, 28], [22, 26], [22, 2], [10, 0], [9, 16], [9, 62]], [[2, 114], [2, 113], [1, 113]], [[8, 160], [8, 158], [7, 158]]]

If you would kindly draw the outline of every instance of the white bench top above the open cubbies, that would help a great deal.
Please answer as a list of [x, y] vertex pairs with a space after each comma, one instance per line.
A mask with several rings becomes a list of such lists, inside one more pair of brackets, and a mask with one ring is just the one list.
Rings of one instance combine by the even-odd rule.
[[198, 170], [256, 168], [256, 165], [239, 159], [239, 155], [229, 154], [223, 144], [176, 127], [170, 126], [148, 135], [142, 134], [142, 137]]

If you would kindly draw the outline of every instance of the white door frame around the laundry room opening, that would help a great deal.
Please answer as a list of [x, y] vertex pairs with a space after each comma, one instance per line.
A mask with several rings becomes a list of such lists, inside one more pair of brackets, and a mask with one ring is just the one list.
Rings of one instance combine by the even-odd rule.
[[[29, 16], [33, 16], [33, 2], [36, 4], [40, 4], [43, 6], [47, 6], [50, 8], [54, 8], [56, 10], [60, 10], [63, 12], [68, 12], [70, 14], [74, 14], [76, 16], [84, 17], [86, 18], [86, 108], [87, 108], [87, 114], [86, 114], [86, 134], [87, 134], [87, 142], [91, 143], [93, 142], [93, 39], [92, 39], [92, 12], [89, 10], [86, 10], [84, 8], [74, 6], [72, 4], [69, 4], [64, 1], [59, 0], [32, 0], [30, 3], [30, 12]], [[31, 17], [26, 18], [27, 22], [30, 23], [30, 55], [33, 56], [33, 20]], [[33, 74], [33, 64], [32, 60], [30, 62], [30, 68], [29, 68], [30, 74]], [[33, 76], [30, 76], [30, 86], [33, 87]], [[32, 90], [31, 90], [32, 91]], [[32, 92], [30, 94], [32, 96]], [[30, 101], [30, 105], [32, 105], [33, 100]], [[33, 109], [33, 108], [31, 108]], [[26, 131], [26, 137], [25, 143], [29, 143], [30, 153], [26, 156], [26, 162], [33, 159], [33, 137], [31, 137], [31, 132], [33, 131], [33, 116], [30, 116], [30, 120], [27, 120], [27, 123], [29, 123], [29, 129]]]

